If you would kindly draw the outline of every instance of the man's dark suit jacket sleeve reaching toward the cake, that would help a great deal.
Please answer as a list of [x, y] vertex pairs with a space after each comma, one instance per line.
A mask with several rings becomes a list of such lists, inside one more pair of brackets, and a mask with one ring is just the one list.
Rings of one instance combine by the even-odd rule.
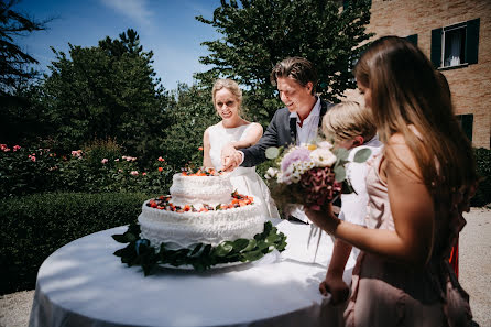
[[240, 164], [242, 167], [253, 167], [260, 163], [266, 161], [266, 149], [271, 146], [279, 146], [279, 112], [276, 111], [266, 128], [266, 131], [262, 138], [252, 146], [241, 149], [243, 153], [243, 162]]

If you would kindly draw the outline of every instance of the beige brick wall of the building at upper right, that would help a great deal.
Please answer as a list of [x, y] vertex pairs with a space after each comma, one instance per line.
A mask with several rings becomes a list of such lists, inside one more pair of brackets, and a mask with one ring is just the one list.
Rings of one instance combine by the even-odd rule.
[[[472, 113], [472, 144], [490, 149], [491, 137], [491, 0], [372, 0], [369, 32], [417, 34], [430, 57], [432, 30], [480, 18], [478, 64], [441, 70], [450, 85], [457, 115]], [[354, 91], [347, 91], [349, 98]]]

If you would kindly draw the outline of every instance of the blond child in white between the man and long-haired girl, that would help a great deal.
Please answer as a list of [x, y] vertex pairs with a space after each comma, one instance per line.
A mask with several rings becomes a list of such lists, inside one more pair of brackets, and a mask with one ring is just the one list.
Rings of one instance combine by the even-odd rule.
[[[335, 146], [353, 150], [349, 153], [349, 161], [352, 161], [356, 152], [361, 149], [369, 149], [371, 155], [379, 153], [382, 149], [382, 143], [377, 137], [371, 110], [358, 102], [343, 101], [330, 108], [323, 118], [323, 132], [328, 140], [334, 142]], [[360, 226], [365, 225], [367, 216], [367, 163], [351, 162], [347, 166], [347, 176], [354, 192], [341, 195], [341, 209], [338, 215], [340, 219]], [[342, 275], [351, 250], [351, 244], [340, 239], [335, 240], [326, 279], [319, 285], [323, 295], [331, 294], [331, 304], [334, 305], [348, 298], [349, 287], [342, 280]], [[354, 257], [358, 253], [359, 250], [353, 249]]]

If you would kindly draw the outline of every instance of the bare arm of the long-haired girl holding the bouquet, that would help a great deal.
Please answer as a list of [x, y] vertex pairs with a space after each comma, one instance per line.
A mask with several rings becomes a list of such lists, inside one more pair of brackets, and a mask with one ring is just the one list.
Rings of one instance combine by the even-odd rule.
[[423, 266], [433, 247], [434, 204], [423, 184], [411, 150], [400, 135], [391, 138], [379, 172], [386, 181], [395, 231], [365, 229], [327, 212], [307, 210], [307, 216], [335, 237], [370, 253]]

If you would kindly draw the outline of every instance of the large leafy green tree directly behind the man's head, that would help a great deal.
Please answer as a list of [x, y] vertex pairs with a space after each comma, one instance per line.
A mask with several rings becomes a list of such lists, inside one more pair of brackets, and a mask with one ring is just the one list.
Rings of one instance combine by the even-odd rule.
[[317, 91], [339, 101], [345, 89], [354, 87], [351, 69], [371, 34], [370, 1], [350, 1], [340, 10], [330, 0], [222, 0], [212, 19], [196, 19], [212, 25], [222, 39], [201, 43], [210, 55], [200, 63], [214, 67], [196, 74], [236, 79], [247, 90], [247, 107], [254, 120], [269, 122], [280, 107], [270, 84], [273, 66], [288, 56], [303, 56], [318, 70]]

